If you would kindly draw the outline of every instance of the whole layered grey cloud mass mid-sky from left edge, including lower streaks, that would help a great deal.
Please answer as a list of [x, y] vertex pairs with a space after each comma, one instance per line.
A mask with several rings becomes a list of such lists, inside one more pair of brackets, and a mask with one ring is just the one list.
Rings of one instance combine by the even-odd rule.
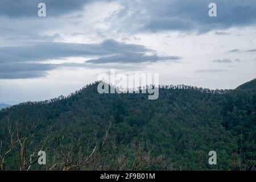
[[[151, 55], [149, 55], [151, 54]], [[97, 56], [82, 64], [41, 64], [46, 60], [65, 59], [67, 57]], [[58, 67], [103, 67], [113, 63], [112, 68], [123, 68], [117, 63], [145, 63], [167, 60], [179, 60], [177, 56], [159, 56], [154, 50], [138, 44], [126, 44], [108, 39], [99, 44], [42, 42], [28, 46], [0, 47], [0, 78], [34, 78], [47, 75], [47, 71]], [[106, 67], [106, 66], [104, 66]]]

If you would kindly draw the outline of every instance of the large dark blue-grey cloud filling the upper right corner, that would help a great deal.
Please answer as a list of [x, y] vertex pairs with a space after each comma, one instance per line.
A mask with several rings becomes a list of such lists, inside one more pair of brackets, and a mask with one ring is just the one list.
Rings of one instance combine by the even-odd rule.
[[[125, 7], [116, 14], [115, 26], [134, 31], [196, 31], [204, 33], [247, 26], [256, 22], [256, 1], [246, 0], [148, 0], [121, 1]], [[208, 15], [209, 3], [216, 3], [217, 17]], [[246, 13], [245, 13], [246, 12]], [[124, 26], [124, 27], [122, 27]], [[228, 33], [218, 31], [217, 35]]]

